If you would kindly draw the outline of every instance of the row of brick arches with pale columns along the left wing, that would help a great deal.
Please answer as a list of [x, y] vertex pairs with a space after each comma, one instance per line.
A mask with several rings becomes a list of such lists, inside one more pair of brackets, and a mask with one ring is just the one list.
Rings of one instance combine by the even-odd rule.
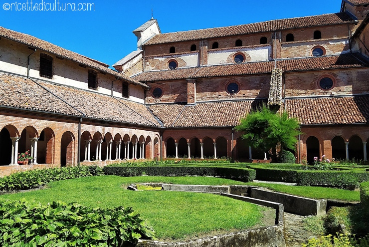
[[81, 133], [80, 145], [80, 156], [77, 159], [78, 140], [75, 132], [66, 130], [61, 137], [56, 138], [55, 132], [48, 127], [38, 132], [34, 127], [27, 126], [19, 132], [16, 127], [6, 125], [0, 130], [0, 166], [18, 165], [18, 154], [27, 150], [33, 157], [32, 164], [54, 164], [59, 158], [61, 166], [75, 165], [76, 160], [99, 162], [152, 159], [154, 151], [160, 152], [160, 137], [157, 134], [113, 135], [110, 132], [103, 135], [99, 131], [93, 133], [86, 130]]

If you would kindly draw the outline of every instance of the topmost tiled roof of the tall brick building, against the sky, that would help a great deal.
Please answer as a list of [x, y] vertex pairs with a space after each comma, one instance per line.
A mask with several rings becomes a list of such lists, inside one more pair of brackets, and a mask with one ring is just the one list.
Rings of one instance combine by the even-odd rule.
[[269, 32], [275, 30], [285, 30], [293, 28], [304, 28], [311, 26], [345, 24], [355, 22], [354, 19], [345, 12], [322, 14], [315, 16], [269, 20], [258, 23], [215, 27], [199, 30], [161, 33], [149, 39], [143, 45], [163, 44], [186, 40], [206, 39], [214, 37], [224, 37], [231, 35], [242, 35], [248, 33]]

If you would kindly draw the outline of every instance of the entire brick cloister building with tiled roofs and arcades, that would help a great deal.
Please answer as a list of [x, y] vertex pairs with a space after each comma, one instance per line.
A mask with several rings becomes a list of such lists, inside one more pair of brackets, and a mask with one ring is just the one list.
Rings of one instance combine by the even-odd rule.
[[0, 28], [0, 171], [20, 169], [16, 154], [27, 149], [34, 164], [52, 165], [158, 154], [264, 159], [233, 131], [262, 101], [299, 119], [298, 162], [367, 160], [368, 21], [369, 0], [173, 33], [151, 19], [133, 31], [137, 50], [117, 71]]

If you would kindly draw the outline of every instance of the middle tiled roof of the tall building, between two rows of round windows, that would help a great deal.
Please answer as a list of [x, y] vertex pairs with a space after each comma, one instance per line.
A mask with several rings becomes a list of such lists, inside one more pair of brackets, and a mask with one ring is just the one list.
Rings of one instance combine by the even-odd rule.
[[[230, 75], [269, 74], [274, 66], [274, 61], [212, 65], [195, 68], [149, 71], [136, 75], [133, 78], [145, 82]], [[367, 66], [369, 66], [367, 58], [362, 56], [360, 53], [346, 53], [336, 56], [308, 57], [277, 61], [277, 68], [283, 69], [284, 72], [359, 68]]]

